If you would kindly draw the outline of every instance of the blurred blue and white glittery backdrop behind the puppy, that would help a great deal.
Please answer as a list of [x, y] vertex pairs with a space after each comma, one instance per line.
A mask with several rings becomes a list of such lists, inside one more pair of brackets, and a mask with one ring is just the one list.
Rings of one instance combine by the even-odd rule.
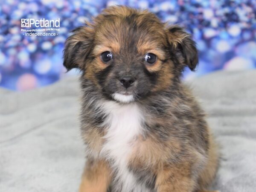
[[[149, 9], [193, 35], [199, 67], [196, 73], [186, 70], [185, 79], [256, 68], [255, 0], [0, 0], [0, 87], [23, 91], [79, 74], [65, 73], [64, 41], [85, 19], [112, 5]], [[24, 36], [21, 18], [60, 18], [60, 31], [56, 36]]]

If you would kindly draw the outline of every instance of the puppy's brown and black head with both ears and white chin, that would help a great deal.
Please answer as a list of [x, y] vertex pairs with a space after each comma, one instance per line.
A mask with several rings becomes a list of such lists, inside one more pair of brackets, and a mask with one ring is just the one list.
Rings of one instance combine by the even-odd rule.
[[64, 66], [79, 68], [102, 95], [129, 103], [168, 90], [198, 63], [195, 43], [152, 13], [114, 6], [67, 38]]

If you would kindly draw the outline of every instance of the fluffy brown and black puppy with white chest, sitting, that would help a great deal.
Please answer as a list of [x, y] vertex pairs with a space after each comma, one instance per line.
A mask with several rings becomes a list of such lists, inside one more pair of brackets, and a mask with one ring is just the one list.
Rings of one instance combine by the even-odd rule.
[[180, 81], [195, 42], [148, 11], [105, 9], [74, 30], [64, 66], [82, 72], [80, 192], [202, 192], [218, 153], [204, 112]]

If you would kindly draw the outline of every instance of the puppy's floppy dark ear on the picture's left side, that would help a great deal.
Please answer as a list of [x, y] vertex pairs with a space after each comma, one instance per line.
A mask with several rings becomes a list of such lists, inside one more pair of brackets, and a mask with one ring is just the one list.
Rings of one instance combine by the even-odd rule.
[[85, 69], [85, 63], [92, 49], [93, 30], [81, 26], [72, 31], [74, 34], [67, 38], [64, 48], [63, 65], [67, 71], [73, 68]]

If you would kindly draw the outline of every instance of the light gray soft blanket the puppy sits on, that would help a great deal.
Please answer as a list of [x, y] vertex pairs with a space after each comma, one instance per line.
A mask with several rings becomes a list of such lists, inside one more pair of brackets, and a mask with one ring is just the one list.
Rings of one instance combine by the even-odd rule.
[[[221, 145], [214, 189], [256, 191], [256, 71], [187, 82]], [[0, 89], [0, 191], [75, 192], [84, 149], [76, 77], [23, 93]]]

